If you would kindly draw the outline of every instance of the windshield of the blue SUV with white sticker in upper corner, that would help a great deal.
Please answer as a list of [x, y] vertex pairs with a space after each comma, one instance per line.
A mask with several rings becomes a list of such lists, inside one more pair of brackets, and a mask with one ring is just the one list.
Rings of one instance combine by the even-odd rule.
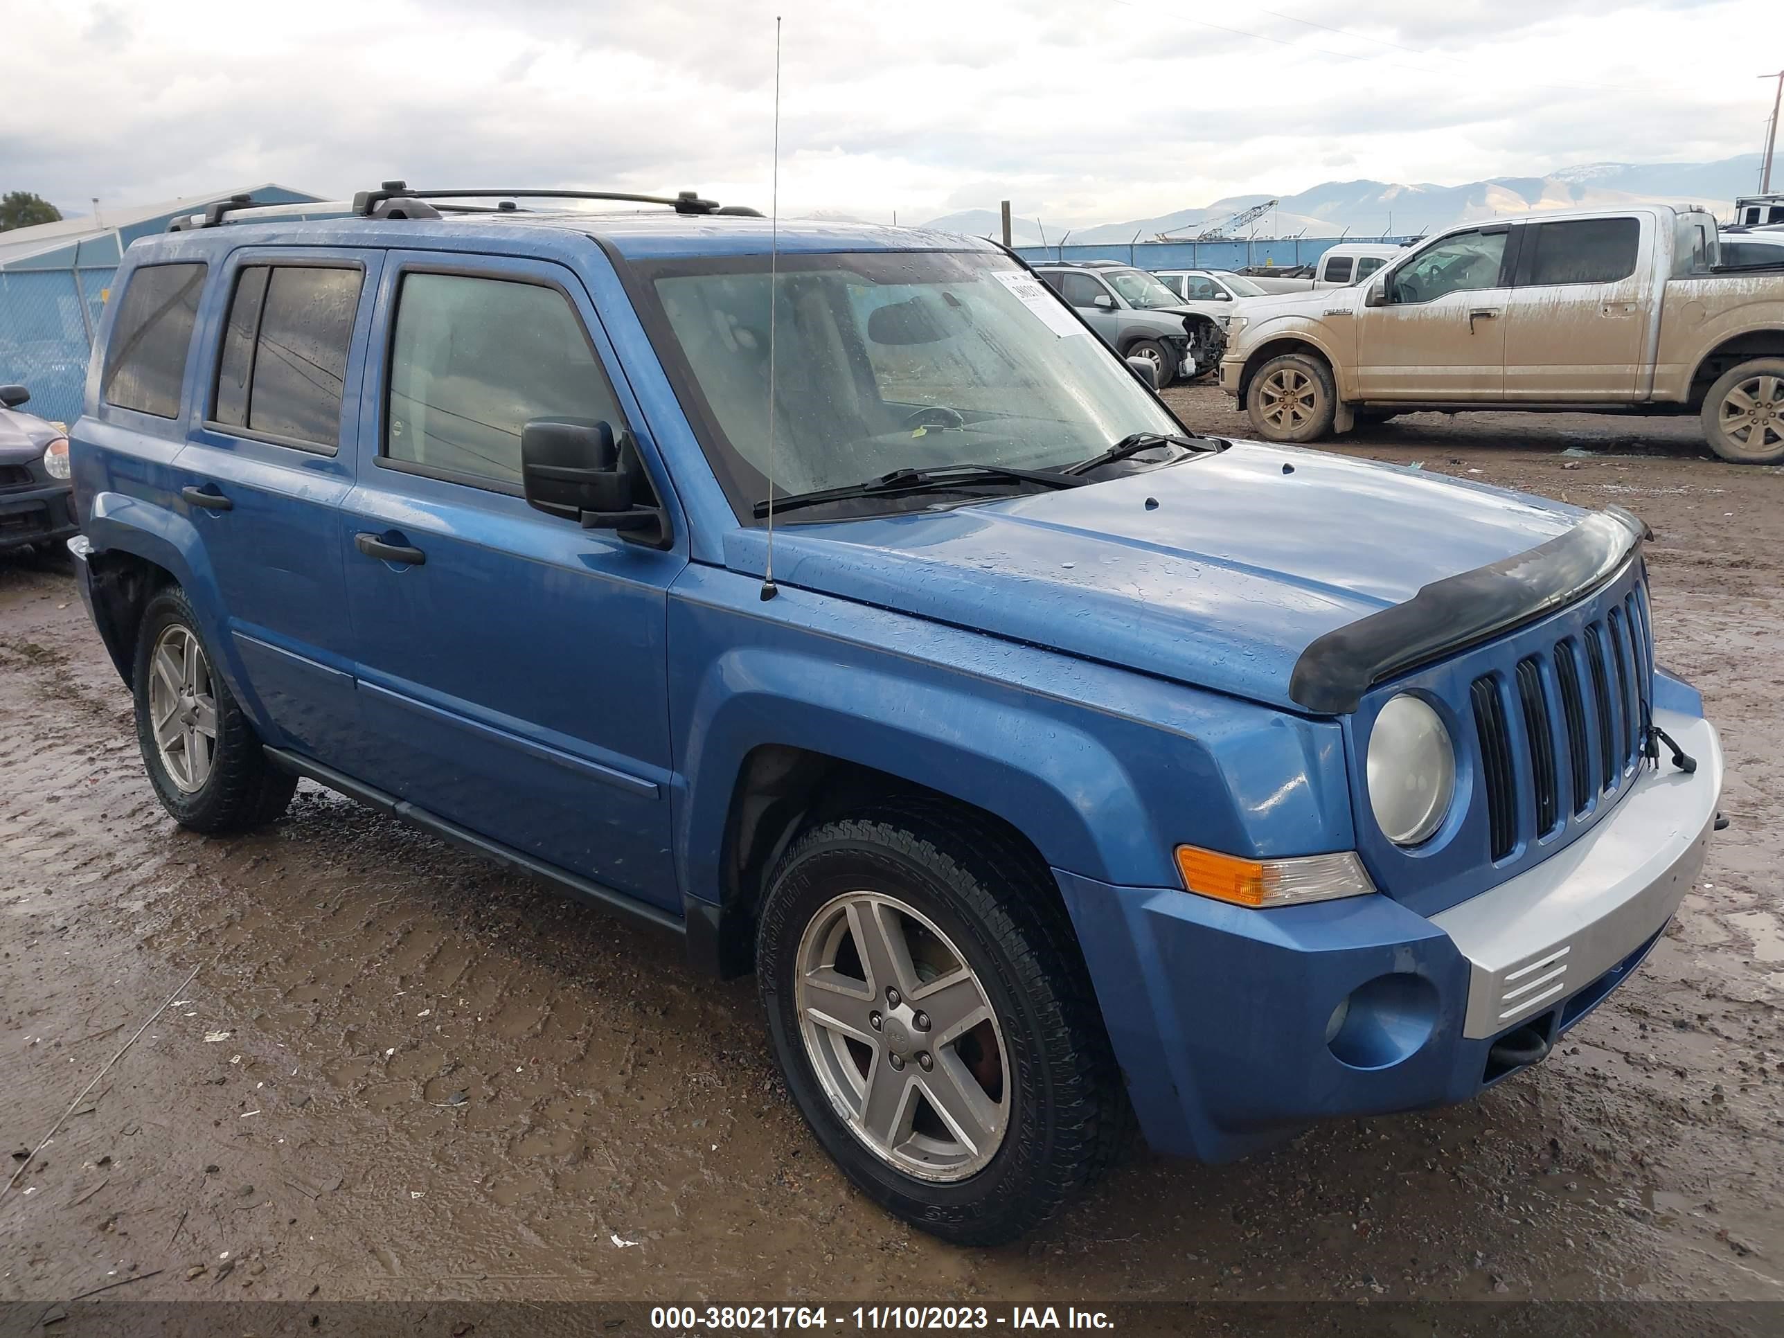
[[[644, 321], [739, 519], [769, 494], [769, 257], [644, 269]], [[1004, 255], [781, 255], [774, 492], [958, 464], [1060, 469], [1181, 432], [1120, 359]], [[1008, 496], [1008, 487], [988, 489]], [[801, 519], [958, 503], [874, 498]]]

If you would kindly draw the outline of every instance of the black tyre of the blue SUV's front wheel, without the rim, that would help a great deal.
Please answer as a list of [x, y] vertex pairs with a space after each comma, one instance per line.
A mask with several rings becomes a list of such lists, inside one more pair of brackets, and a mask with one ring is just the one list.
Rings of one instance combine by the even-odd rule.
[[[847, 892], [892, 896], [929, 919], [960, 946], [997, 1017], [1010, 1113], [995, 1154], [963, 1179], [919, 1179], [871, 1151], [814, 1069], [796, 997], [799, 942]], [[1015, 1240], [1120, 1152], [1131, 1113], [1072, 926], [1047, 867], [992, 822], [904, 801], [808, 830], [764, 901], [756, 979], [774, 1058], [812, 1133], [867, 1197], [922, 1231], [960, 1245]]]

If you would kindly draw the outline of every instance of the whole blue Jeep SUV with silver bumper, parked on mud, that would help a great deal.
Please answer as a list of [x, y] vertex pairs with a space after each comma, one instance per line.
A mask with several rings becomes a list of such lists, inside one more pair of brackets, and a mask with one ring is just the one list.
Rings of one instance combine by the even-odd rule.
[[1666, 929], [1722, 751], [1634, 516], [1195, 435], [988, 243], [494, 194], [125, 257], [70, 548], [180, 824], [307, 776], [755, 972], [976, 1243], [1135, 1119], [1472, 1097]]

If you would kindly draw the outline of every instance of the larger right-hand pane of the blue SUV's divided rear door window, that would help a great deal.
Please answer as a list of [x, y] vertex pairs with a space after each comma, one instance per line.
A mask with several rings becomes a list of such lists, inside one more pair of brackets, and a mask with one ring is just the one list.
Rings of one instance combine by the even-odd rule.
[[248, 389], [248, 426], [334, 446], [359, 310], [359, 269], [273, 268]]

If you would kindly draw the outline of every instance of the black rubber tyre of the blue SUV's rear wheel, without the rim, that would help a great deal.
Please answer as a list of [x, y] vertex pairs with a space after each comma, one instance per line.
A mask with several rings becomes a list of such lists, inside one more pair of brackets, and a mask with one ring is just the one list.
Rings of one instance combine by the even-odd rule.
[[203, 651], [209, 665], [216, 655], [198, 630], [186, 591], [168, 585], [143, 610], [136, 639], [136, 665], [130, 690], [136, 698], [136, 742], [143, 751], [143, 767], [155, 787], [155, 797], [175, 822], [194, 831], [243, 831], [271, 822], [285, 812], [298, 778], [268, 762], [260, 735], [243, 714], [219, 673], [211, 673], [211, 696], [216, 706], [216, 742], [209, 774], [196, 790], [186, 790], [168, 771], [155, 744], [150, 719], [152, 658], [161, 637], [173, 626], [182, 626]]

